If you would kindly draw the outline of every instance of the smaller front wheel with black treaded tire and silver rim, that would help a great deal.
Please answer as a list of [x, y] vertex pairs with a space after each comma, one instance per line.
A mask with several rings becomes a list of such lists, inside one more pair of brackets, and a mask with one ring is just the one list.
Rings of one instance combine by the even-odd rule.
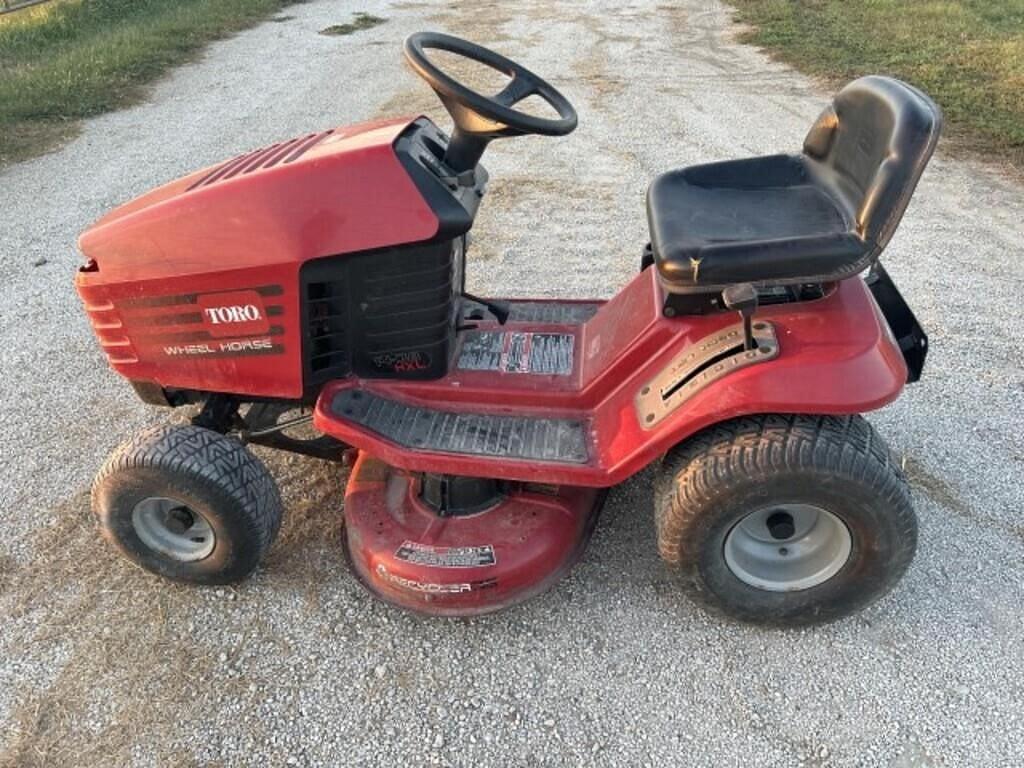
[[281, 526], [278, 486], [238, 440], [196, 426], [143, 430], [92, 486], [100, 530], [127, 558], [176, 582], [249, 575]]

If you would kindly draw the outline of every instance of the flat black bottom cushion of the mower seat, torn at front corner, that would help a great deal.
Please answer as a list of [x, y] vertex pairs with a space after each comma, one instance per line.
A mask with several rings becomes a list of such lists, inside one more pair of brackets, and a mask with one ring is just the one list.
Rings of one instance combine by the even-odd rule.
[[844, 275], [868, 251], [853, 213], [815, 181], [802, 156], [670, 171], [648, 189], [647, 217], [670, 290], [817, 282]]

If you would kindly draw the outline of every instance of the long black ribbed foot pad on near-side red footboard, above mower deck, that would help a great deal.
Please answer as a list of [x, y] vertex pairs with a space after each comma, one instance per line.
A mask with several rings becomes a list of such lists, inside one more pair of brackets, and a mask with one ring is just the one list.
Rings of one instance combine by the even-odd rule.
[[586, 464], [587, 425], [575, 419], [455, 413], [409, 406], [360, 389], [339, 392], [331, 410], [392, 442], [489, 459]]

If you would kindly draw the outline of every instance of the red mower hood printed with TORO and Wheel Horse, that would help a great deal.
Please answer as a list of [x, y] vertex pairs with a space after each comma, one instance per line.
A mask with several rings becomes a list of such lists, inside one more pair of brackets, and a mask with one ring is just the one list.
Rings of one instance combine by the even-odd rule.
[[[257, 150], [97, 221], [80, 239], [90, 263], [76, 283], [111, 366], [165, 387], [299, 397], [302, 263], [437, 231], [392, 147], [409, 123]], [[248, 306], [259, 321], [229, 324], [234, 334], [207, 311]]]

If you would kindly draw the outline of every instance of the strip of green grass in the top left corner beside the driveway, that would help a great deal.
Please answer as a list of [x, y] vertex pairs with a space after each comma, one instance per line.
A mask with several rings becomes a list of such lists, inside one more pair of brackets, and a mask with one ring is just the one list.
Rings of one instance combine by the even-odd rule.
[[0, 164], [131, 103], [211, 40], [289, 0], [54, 0], [0, 16]]

